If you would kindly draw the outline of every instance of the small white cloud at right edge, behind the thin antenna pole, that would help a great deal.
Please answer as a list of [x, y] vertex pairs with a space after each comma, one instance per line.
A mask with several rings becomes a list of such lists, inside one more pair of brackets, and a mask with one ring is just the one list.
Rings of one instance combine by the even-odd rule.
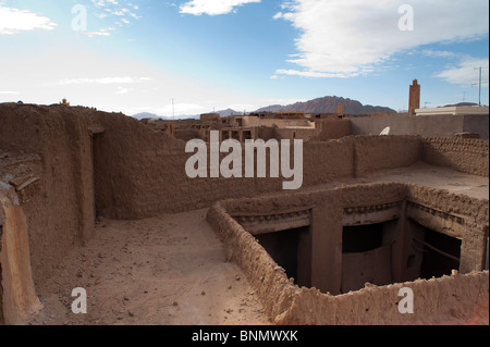
[[479, 67], [482, 73], [482, 84], [488, 86], [489, 61], [488, 59], [478, 59], [467, 57], [456, 66], [448, 66], [446, 70], [438, 73], [434, 77], [445, 79], [449, 83], [469, 86], [479, 83]]

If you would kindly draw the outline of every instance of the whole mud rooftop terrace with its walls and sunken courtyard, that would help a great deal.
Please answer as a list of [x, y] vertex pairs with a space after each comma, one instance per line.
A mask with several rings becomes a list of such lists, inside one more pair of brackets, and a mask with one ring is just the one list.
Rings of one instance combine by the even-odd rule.
[[0, 104], [0, 148], [2, 323], [488, 324], [488, 140], [307, 142], [293, 193], [86, 108]]

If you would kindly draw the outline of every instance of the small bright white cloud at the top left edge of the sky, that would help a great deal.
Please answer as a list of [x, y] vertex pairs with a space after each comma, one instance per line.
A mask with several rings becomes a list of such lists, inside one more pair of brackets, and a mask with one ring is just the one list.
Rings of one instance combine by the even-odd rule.
[[0, 3], [0, 35], [12, 35], [35, 29], [52, 30], [58, 24], [29, 11], [5, 8]]

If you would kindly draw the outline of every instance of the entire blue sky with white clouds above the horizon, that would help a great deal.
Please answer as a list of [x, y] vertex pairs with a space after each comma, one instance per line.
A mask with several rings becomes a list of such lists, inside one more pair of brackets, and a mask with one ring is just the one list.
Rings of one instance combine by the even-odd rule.
[[[408, 5], [408, 7], [406, 7]], [[0, 0], [0, 102], [132, 115], [489, 103], [487, 0]]]

